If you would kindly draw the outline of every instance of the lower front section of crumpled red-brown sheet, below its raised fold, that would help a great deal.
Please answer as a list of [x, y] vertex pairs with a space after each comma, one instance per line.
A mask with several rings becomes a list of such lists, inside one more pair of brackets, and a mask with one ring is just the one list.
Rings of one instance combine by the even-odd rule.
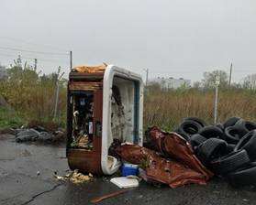
[[119, 155], [126, 161], [137, 164], [145, 170], [140, 177], [147, 181], [158, 181], [172, 188], [185, 184], [206, 184], [210, 176], [182, 163], [159, 156], [155, 151], [141, 146], [124, 145], [117, 148]]

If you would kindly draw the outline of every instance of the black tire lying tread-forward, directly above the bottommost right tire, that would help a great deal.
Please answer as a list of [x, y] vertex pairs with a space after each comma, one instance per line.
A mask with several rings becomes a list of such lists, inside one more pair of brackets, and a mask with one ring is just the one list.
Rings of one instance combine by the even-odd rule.
[[250, 158], [246, 150], [239, 150], [229, 153], [227, 156], [221, 156], [211, 161], [211, 167], [219, 175], [225, 175], [235, 169], [250, 163]]

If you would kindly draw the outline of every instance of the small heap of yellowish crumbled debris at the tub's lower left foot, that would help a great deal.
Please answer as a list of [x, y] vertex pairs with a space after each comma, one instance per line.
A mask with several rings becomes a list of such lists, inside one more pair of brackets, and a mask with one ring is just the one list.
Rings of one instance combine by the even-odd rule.
[[58, 180], [71, 181], [72, 183], [75, 184], [89, 181], [92, 178], [91, 176], [93, 175], [83, 175], [82, 173], [79, 173], [77, 169], [73, 170], [72, 173], [67, 174], [63, 177], [54, 174], [54, 177], [57, 178]]

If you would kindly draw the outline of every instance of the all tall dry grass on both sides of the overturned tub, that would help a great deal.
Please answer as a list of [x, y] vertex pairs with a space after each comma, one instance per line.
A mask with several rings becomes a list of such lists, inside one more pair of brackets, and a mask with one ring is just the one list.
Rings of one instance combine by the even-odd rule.
[[[36, 70], [14, 67], [9, 70], [9, 74], [10, 77], [6, 81], [0, 81], [0, 93], [18, 113], [22, 113], [22, 122], [52, 121], [58, 73], [39, 77]], [[144, 128], [158, 125], [163, 129], [173, 130], [188, 116], [200, 117], [208, 124], [213, 124], [214, 101], [215, 91], [211, 89], [163, 90], [158, 86], [149, 86], [145, 89], [144, 97]], [[217, 111], [218, 122], [223, 122], [230, 116], [239, 116], [255, 122], [256, 91], [239, 88], [220, 90]], [[0, 114], [5, 113], [0, 110]], [[57, 123], [64, 125], [66, 86], [63, 81], [60, 86], [57, 115]]]

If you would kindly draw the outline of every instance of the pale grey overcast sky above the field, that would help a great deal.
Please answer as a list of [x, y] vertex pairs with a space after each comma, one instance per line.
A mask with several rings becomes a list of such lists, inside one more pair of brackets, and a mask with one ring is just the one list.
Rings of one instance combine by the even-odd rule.
[[[256, 72], [254, 0], [0, 0], [0, 48], [73, 52], [73, 65], [102, 62], [150, 78], [202, 79], [229, 70], [233, 81]], [[18, 54], [39, 59], [49, 73], [68, 55], [0, 49], [0, 62]]]

